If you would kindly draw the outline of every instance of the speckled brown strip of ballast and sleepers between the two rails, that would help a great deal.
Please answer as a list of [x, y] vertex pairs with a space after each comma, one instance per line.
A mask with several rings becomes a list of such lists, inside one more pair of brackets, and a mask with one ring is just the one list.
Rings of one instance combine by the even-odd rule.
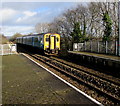
[[[68, 66], [65, 66], [63, 64], [59, 64], [58, 62], [53, 62], [51, 60], [42, 58], [42, 60], [47, 61], [47, 63], [51, 63], [59, 68], [62, 68], [64, 71], [70, 72], [72, 73], [74, 76], [79, 77], [81, 80], [83, 80], [86, 83], [89, 83], [90, 85], [93, 85], [94, 87], [96, 86], [97, 89], [101, 89], [104, 90], [104, 92], [108, 92], [111, 96], [117, 97], [119, 98], [119, 89], [117, 88], [113, 88], [113, 86], [110, 86], [110, 84], [105, 83], [104, 81], [100, 81], [96, 78], [91, 78], [90, 75], [87, 75], [86, 73], [84, 74], [84, 72], [80, 72], [79, 70], [70, 68]], [[68, 71], [70, 70], [70, 71]], [[100, 88], [99, 88], [100, 86]], [[109, 86], [109, 87], [108, 87]], [[118, 94], [118, 95], [117, 95]]]

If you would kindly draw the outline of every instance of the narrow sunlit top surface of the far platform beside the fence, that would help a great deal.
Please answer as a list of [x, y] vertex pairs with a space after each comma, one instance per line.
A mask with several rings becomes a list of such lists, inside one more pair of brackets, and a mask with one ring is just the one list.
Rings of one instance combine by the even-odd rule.
[[80, 51], [69, 51], [69, 53], [77, 53], [77, 54], [81, 54], [81, 55], [95, 56], [95, 57], [99, 57], [99, 58], [110, 59], [110, 60], [120, 62], [120, 57], [119, 56], [97, 54], [97, 53], [90, 53], [90, 52], [80, 52]]

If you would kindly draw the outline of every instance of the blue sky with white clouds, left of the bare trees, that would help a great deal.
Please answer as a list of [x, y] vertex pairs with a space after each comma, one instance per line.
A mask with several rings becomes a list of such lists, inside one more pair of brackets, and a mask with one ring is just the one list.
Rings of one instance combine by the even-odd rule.
[[0, 13], [0, 27], [5, 36], [15, 33], [34, 33], [35, 25], [40, 22], [51, 22], [68, 8], [80, 2], [3, 2]]

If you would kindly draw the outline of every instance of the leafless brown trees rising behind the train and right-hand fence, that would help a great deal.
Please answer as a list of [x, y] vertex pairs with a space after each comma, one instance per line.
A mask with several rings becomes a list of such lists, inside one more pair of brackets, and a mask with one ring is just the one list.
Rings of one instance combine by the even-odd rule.
[[69, 48], [72, 42], [71, 33], [75, 23], [80, 24], [80, 30], [88, 38], [101, 38], [104, 36], [105, 25], [104, 14], [108, 12], [112, 20], [112, 36], [118, 34], [118, 2], [90, 2], [86, 5], [78, 5], [66, 10], [61, 17], [55, 18], [53, 22], [38, 23], [36, 32], [60, 33], [65, 46]]

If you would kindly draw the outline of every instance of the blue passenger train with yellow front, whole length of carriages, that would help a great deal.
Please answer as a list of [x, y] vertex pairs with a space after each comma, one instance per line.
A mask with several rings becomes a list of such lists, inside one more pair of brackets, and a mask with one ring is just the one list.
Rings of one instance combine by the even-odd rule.
[[37, 48], [44, 54], [58, 54], [60, 51], [60, 34], [41, 33], [17, 37], [17, 44]]

